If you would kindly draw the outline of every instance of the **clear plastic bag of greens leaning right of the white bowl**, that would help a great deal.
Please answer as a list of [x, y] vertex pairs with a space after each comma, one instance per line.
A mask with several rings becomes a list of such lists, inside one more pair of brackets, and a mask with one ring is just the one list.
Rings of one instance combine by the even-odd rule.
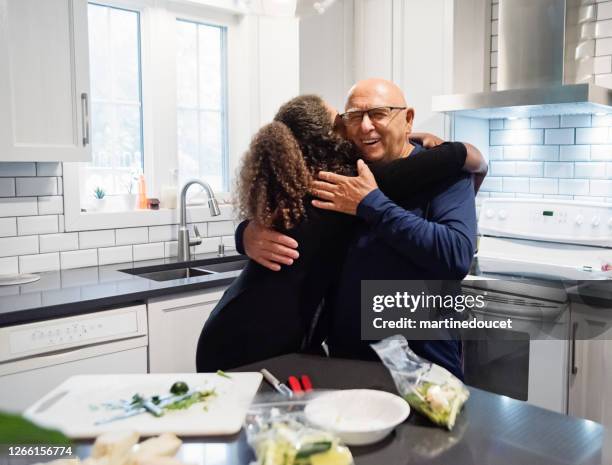
[[461, 380], [415, 354], [404, 336], [388, 337], [372, 344], [372, 348], [410, 406], [436, 425], [452, 430], [457, 414], [470, 396]]

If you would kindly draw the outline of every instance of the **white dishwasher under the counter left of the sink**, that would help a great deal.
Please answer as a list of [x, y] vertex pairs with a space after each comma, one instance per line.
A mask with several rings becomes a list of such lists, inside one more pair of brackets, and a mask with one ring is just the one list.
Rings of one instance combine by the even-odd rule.
[[146, 305], [0, 328], [0, 410], [19, 413], [66, 378], [147, 373]]

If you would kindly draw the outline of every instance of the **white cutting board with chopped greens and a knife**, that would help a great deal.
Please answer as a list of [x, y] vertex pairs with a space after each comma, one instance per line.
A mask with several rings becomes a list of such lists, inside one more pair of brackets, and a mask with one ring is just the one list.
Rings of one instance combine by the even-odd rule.
[[[234, 434], [242, 427], [262, 376], [260, 373], [230, 373], [228, 376], [231, 379], [215, 373], [72, 376], [29, 407], [24, 416], [75, 439], [93, 438], [105, 431], [117, 430], [135, 430], [142, 436], [166, 432], [178, 436]], [[166, 395], [176, 381], [186, 382], [190, 389], [214, 388], [217, 395], [185, 410], [166, 411], [162, 417], [143, 413], [102, 425], [94, 424], [121, 413], [100, 407], [102, 403], [131, 399], [136, 393], [147, 397]]]

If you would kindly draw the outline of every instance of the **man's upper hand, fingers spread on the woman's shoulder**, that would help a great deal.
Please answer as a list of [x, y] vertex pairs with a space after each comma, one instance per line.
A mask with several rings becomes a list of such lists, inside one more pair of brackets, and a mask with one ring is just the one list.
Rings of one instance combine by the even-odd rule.
[[363, 198], [378, 189], [374, 175], [363, 160], [357, 161], [357, 172], [358, 176], [351, 177], [321, 171], [321, 181], [313, 182], [311, 189], [312, 194], [321, 200], [313, 200], [312, 204], [323, 210], [355, 215]]

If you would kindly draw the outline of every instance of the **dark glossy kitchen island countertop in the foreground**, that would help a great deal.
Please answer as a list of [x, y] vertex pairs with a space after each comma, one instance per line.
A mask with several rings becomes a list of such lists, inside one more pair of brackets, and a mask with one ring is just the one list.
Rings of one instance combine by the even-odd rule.
[[[373, 388], [396, 392], [378, 362], [286, 355], [236, 371], [269, 369], [281, 380], [310, 375], [315, 388]], [[268, 391], [262, 384], [260, 392]], [[561, 415], [525, 402], [470, 388], [470, 398], [452, 432], [411, 413], [391, 436], [351, 447], [355, 465], [595, 465], [612, 463], [612, 435], [602, 425]], [[89, 446], [77, 450], [87, 456]], [[253, 453], [238, 435], [190, 439], [179, 451], [184, 463], [247, 465]]]

